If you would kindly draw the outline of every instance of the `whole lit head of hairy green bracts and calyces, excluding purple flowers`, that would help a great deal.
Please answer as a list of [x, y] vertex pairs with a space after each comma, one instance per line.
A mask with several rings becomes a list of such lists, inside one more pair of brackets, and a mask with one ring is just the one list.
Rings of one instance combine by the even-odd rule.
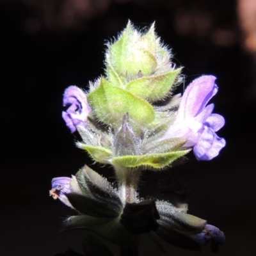
[[[141, 33], [128, 22], [107, 46], [106, 76], [91, 84], [87, 99], [92, 115], [88, 127], [79, 127], [83, 143], [77, 145], [93, 160], [122, 170], [162, 169], [189, 152], [182, 148], [185, 139], [161, 140], [179, 107], [180, 96], [171, 96], [182, 68], [170, 61], [154, 24]], [[166, 102], [154, 105], [159, 100]], [[106, 126], [99, 129], [100, 124]]]

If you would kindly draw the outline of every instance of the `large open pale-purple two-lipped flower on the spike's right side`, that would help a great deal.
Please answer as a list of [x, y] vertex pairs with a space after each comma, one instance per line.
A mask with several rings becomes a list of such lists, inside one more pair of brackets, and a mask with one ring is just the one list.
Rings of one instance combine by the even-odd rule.
[[188, 141], [184, 147], [194, 147], [193, 152], [198, 160], [211, 160], [226, 144], [215, 133], [225, 124], [223, 116], [212, 114], [214, 104], [206, 106], [218, 92], [215, 80], [214, 76], [202, 76], [189, 84], [180, 101], [175, 121], [164, 136], [186, 138]]

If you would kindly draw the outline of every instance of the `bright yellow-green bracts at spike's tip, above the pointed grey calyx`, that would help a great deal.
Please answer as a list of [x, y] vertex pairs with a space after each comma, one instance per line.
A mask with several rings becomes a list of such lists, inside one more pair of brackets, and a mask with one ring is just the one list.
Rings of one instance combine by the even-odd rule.
[[108, 44], [106, 77], [91, 84], [88, 102], [95, 117], [117, 129], [128, 113], [138, 125], [154, 127], [161, 115], [156, 116], [152, 103], [172, 95], [181, 80], [181, 68], [175, 68], [170, 58], [154, 24], [141, 33], [128, 22], [118, 39]]

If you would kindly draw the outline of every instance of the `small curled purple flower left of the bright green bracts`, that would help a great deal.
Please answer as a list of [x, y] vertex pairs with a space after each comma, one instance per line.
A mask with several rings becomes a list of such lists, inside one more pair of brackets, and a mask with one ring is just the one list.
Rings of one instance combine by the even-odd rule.
[[88, 105], [86, 94], [80, 88], [69, 86], [65, 90], [63, 106], [68, 106], [68, 109], [62, 112], [62, 117], [71, 132], [75, 132], [78, 125], [86, 125], [91, 108]]

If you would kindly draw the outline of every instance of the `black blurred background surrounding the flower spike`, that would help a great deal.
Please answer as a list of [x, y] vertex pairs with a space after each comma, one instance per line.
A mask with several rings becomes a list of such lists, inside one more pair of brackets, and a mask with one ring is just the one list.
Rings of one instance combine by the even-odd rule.
[[[225, 232], [218, 255], [255, 252], [255, 64], [243, 48], [236, 1], [2, 0], [1, 255], [81, 250], [83, 232], [59, 232], [74, 212], [49, 197], [53, 177], [92, 164], [61, 118], [62, 95], [70, 84], [86, 88], [104, 72], [104, 44], [128, 19], [138, 28], [156, 20], [186, 85], [202, 74], [218, 77], [214, 112], [226, 120], [218, 132], [227, 140], [220, 156], [197, 162], [191, 154], [164, 173], [145, 172], [141, 195], [156, 193], [156, 179], [182, 179], [191, 187], [189, 213]], [[93, 168], [113, 180], [108, 166]], [[150, 246], [146, 241], [141, 250], [156, 255]], [[170, 255], [202, 255], [167, 248]], [[203, 254], [213, 253], [205, 248]]]

